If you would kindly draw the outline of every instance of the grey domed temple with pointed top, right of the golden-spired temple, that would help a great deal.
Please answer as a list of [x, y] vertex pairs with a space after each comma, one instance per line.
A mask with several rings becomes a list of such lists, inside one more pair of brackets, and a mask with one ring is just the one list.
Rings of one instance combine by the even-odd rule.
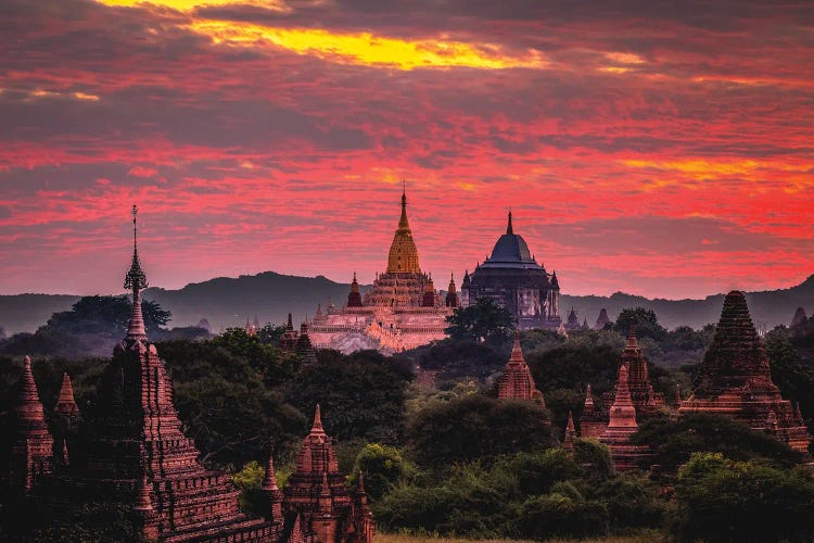
[[514, 233], [511, 212], [506, 233], [495, 243], [492, 256], [463, 276], [461, 306], [483, 296], [508, 308], [521, 330], [559, 328], [562, 323], [557, 273], [549, 275], [537, 264], [523, 237]]

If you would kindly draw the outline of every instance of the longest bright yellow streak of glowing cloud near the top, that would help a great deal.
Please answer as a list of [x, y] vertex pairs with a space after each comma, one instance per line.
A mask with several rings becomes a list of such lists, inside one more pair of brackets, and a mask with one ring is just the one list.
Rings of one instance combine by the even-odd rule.
[[274, 28], [225, 21], [195, 21], [188, 28], [208, 36], [215, 43], [267, 43], [345, 64], [387, 65], [399, 70], [454, 66], [500, 70], [546, 65], [536, 51], [512, 56], [497, 46], [475, 46], [462, 41], [408, 41], [369, 33], [332, 34], [322, 29]]

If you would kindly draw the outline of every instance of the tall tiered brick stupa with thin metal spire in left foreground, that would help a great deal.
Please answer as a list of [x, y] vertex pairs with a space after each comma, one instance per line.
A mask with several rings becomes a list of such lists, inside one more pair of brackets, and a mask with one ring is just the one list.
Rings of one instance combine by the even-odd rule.
[[[133, 241], [135, 214], [133, 206]], [[151, 540], [279, 541], [282, 526], [241, 513], [229, 476], [199, 464], [200, 452], [181, 431], [173, 384], [144, 330], [147, 285], [133, 243], [125, 279], [133, 302], [127, 334], [104, 370], [81, 450], [72, 453], [77, 462], [43, 481], [38, 500], [66, 519], [87, 502], [128, 505]]]

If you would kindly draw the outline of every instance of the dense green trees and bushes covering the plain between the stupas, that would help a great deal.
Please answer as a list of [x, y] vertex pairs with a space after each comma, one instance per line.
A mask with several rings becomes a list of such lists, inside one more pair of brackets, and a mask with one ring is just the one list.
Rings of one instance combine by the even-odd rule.
[[[605, 330], [567, 337], [525, 331], [521, 345], [544, 392], [543, 408], [495, 397], [512, 324], [488, 302], [479, 302], [470, 313], [456, 312], [453, 337], [446, 340], [393, 357], [322, 350], [311, 365], [280, 352], [280, 325], [266, 325], [255, 336], [230, 329], [216, 337], [195, 338], [198, 332], [191, 331], [174, 338], [162, 328], [168, 315], [161, 307], [144, 311], [152, 315], [150, 334], [158, 340], [173, 378], [185, 432], [207, 465], [232, 472], [247, 512], [264, 510], [259, 485], [271, 443], [284, 487], [319, 403], [323, 425], [338, 440], [347, 484], [364, 475], [382, 530], [478, 539], [588, 538], [640, 530], [686, 541], [812, 539], [813, 483], [810, 473], [794, 468], [800, 455], [729, 419], [692, 415], [645, 421], [634, 439], [653, 451], [648, 464], [659, 470], [651, 477], [614, 472], [608, 447], [594, 440], [577, 439], [572, 451], [559, 446], [569, 411], [578, 425], [586, 384], [598, 402], [612, 390], [632, 323], [650, 361], [653, 387], [669, 403], [676, 384], [691, 390], [714, 327], [667, 331], [652, 312], [633, 308]], [[16, 397], [22, 366], [16, 350], [36, 346], [31, 353], [47, 355], [34, 362], [47, 417], [63, 372], [72, 376], [82, 413], [94, 416], [106, 359], [65, 353], [75, 354], [76, 345], [86, 349], [82, 342], [90, 338], [120, 340], [122, 315], [126, 321], [129, 304], [123, 296], [94, 296], [66, 313], [71, 315], [55, 314], [35, 334], [0, 343], [0, 349], [12, 345], [7, 352], [14, 353], [13, 359], [0, 358], [0, 413], [8, 413]], [[97, 313], [103, 316], [93, 317]], [[811, 422], [814, 370], [806, 345], [814, 346], [814, 330], [806, 327], [809, 323], [779, 327], [766, 334], [765, 344], [774, 382]], [[435, 388], [414, 382], [417, 366], [435, 376]], [[106, 526], [92, 526], [102, 510], [89, 510], [88, 520], [69, 532], [46, 528], [41, 533], [65, 541], [113, 541]], [[114, 508], [110, 515], [131, 529], [126, 512]], [[762, 516], [783, 529], [767, 534], [753, 521]]]

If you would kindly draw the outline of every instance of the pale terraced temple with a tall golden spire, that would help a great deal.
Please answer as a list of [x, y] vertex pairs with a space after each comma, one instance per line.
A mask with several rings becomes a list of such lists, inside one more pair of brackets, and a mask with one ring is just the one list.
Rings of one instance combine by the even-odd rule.
[[347, 303], [343, 307], [329, 304], [326, 313], [317, 312], [310, 323], [310, 341], [315, 348], [345, 354], [366, 349], [393, 354], [445, 338], [446, 317], [457, 305], [453, 280], [442, 296], [432, 277], [421, 270], [403, 193], [386, 272], [377, 274], [364, 296], [354, 273]]

